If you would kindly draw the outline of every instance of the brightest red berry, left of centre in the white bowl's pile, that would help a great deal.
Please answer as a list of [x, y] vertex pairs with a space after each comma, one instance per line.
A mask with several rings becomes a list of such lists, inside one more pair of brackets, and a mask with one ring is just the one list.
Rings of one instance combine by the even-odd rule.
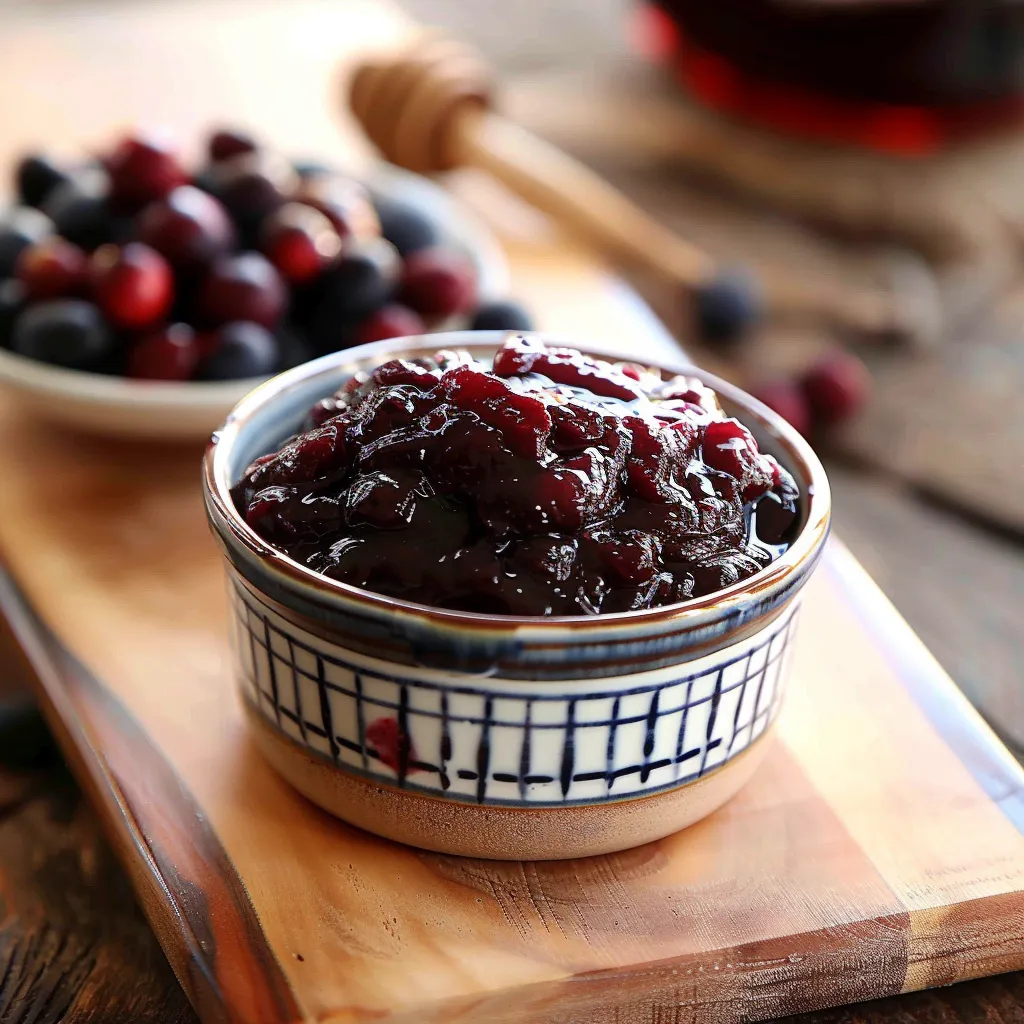
[[170, 264], [141, 242], [100, 246], [92, 256], [92, 283], [96, 305], [117, 327], [156, 324], [174, 301]]

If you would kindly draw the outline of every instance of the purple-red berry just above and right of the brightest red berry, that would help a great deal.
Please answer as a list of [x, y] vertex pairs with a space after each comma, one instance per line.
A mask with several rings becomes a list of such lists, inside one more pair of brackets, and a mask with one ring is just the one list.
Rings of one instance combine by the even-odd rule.
[[138, 238], [176, 270], [194, 273], [234, 248], [234, 225], [223, 205], [193, 185], [179, 185], [139, 214]]

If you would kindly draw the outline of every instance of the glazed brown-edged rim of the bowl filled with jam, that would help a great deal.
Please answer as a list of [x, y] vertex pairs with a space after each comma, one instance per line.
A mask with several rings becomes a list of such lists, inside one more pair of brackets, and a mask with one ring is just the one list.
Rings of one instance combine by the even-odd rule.
[[[273, 548], [245, 522], [236, 509], [230, 498], [231, 484], [227, 475], [231, 450], [239, 443], [253, 417], [268, 404], [280, 400], [283, 394], [300, 389], [315, 377], [332, 376], [340, 368], [348, 365], [353, 365], [353, 368], [358, 365], [358, 368], [362, 369], [374, 362], [379, 365], [387, 358], [394, 358], [396, 354], [426, 354], [441, 348], [463, 348], [471, 352], [474, 349], [494, 350], [506, 338], [523, 334], [537, 336], [548, 344], [573, 347], [600, 359], [633, 362], [660, 373], [678, 373], [694, 377], [713, 388], [727, 402], [735, 406], [739, 411], [741, 422], [748, 425], [756, 423], [759, 428], [767, 432], [773, 444], [785, 451], [788, 459], [801, 467], [803, 475], [809, 481], [805, 496], [810, 502], [807, 518], [793, 544], [775, 561], [754, 575], [692, 601], [597, 615], [498, 615], [420, 604], [331, 580]], [[797, 575], [806, 578], [821, 553], [831, 521], [831, 492], [828, 479], [813, 449], [785, 420], [745, 391], [688, 362], [682, 352], [678, 362], [662, 358], [646, 360], [637, 358], [636, 353], [623, 353], [603, 345], [590, 347], [578, 339], [567, 339], [541, 331], [454, 331], [392, 338], [334, 352], [287, 371], [261, 383], [246, 395], [230, 412], [221, 428], [214, 431], [203, 460], [203, 482], [208, 516], [220, 542], [228, 550], [232, 542], [241, 545], [250, 557], [267, 565], [289, 583], [311, 588], [322, 597], [335, 598], [346, 603], [354, 602], [370, 612], [411, 616], [435, 627], [479, 630], [492, 634], [509, 634], [524, 629], [555, 634], [566, 628], [571, 628], [573, 631], [603, 633], [614, 627], [636, 628], [664, 624], [667, 620], [671, 620], [673, 625], [678, 623], [680, 629], [684, 630], [690, 626], [698, 627], [705, 624], [709, 616], [727, 615], [750, 601], [766, 601], [778, 596], [780, 592], [788, 589], [791, 578], [796, 579]]]

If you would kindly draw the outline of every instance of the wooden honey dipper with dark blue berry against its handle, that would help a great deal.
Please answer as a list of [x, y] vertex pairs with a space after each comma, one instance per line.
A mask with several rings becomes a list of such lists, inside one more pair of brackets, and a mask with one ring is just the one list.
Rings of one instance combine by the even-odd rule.
[[744, 286], [741, 275], [584, 165], [495, 114], [493, 84], [473, 50], [427, 32], [404, 51], [361, 63], [348, 100], [392, 163], [421, 174], [462, 166], [488, 172], [591, 245], [679, 286], [709, 338], [741, 333], [761, 312], [824, 323], [870, 340], [898, 339], [913, 329], [907, 323], [912, 317], [884, 289], [851, 297], [820, 282]]

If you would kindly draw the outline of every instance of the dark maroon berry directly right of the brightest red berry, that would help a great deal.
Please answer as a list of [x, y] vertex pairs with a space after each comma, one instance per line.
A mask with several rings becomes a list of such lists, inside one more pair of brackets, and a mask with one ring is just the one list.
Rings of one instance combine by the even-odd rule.
[[222, 256], [210, 267], [196, 301], [199, 322], [219, 327], [233, 321], [253, 321], [273, 328], [288, 303], [281, 274], [260, 253]]

